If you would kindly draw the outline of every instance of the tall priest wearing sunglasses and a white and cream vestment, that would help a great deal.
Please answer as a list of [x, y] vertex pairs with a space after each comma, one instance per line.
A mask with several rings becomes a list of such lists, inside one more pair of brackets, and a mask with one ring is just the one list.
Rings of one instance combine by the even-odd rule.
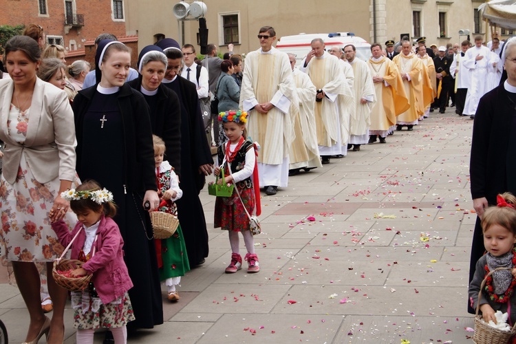
[[267, 195], [275, 195], [278, 187], [288, 186], [292, 117], [299, 110], [288, 56], [272, 47], [275, 30], [264, 26], [258, 37], [261, 48], [246, 56], [239, 107], [249, 112], [248, 137], [261, 147], [257, 162], [260, 186]]

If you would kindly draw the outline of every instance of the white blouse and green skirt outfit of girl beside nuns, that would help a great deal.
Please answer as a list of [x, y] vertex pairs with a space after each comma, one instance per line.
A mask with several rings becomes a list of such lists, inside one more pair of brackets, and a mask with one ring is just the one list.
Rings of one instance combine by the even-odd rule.
[[[172, 179], [173, 178], [173, 179]], [[160, 197], [169, 189], [178, 191], [178, 178], [172, 171], [169, 162], [162, 162], [159, 171], [156, 171], [156, 182]], [[177, 189], [175, 189], [177, 187]], [[178, 206], [175, 202], [169, 201], [166, 205], [158, 208], [158, 211], [178, 216]], [[181, 225], [175, 233], [167, 239], [155, 239], [156, 254], [158, 255], [158, 268], [160, 270], [160, 281], [173, 277], [184, 276], [190, 270], [186, 244], [184, 244]], [[176, 284], [176, 283], [174, 283]]]

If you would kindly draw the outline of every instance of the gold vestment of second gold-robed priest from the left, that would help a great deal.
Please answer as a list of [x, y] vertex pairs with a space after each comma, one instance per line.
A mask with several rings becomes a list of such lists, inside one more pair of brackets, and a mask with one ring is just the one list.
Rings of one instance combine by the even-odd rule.
[[408, 74], [410, 80], [403, 79], [403, 86], [405, 93], [409, 98], [410, 108], [398, 116], [398, 124], [416, 124], [418, 118], [424, 114], [424, 100], [423, 100], [423, 80], [422, 80], [422, 62], [416, 57], [416, 54], [401, 53], [394, 56], [392, 62], [398, 67], [401, 75]]

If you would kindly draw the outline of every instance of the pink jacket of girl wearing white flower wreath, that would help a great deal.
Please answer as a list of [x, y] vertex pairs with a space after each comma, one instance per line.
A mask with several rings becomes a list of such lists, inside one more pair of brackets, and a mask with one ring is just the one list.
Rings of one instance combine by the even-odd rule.
[[[77, 231], [83, 228], [81, 222], [77, 222], [72, 232], [69, 231], [68, 226], [63, 220], [52, 224], [52, 229], [56, 232], [59, 241], [63, 246], [68, 246], [72, 241]], [[120, 230], [113, 219], [102, 215], [100, 224], [97, 230], [95, 255], [89, 259], [83, 268], [89, 273], [93, 274], [92, 282], [97, 290], [97, 294], [106, 305], [111, 301], [115, 301], [133, 288], [133, 282], [127, 272], [127, 266], [124, 262], [124, 240], [120, 235]], [[84, 247], [86, 240], [86, 233], [81, 230], [78, 237], [72, 244], [72, 259], [78, 259], [80, 250]], [[89, 252], [90, 257], [92, 251]], [[86, 252], [85, 252], [86, 253]]]

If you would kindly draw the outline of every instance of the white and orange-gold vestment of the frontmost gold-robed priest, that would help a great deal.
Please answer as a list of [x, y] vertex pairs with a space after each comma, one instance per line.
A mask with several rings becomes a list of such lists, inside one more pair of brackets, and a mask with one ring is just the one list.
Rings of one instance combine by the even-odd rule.
[[409, 100], [396, 65], [387, 57], [367, 61], [371, 75], [383, 78], [383, 83], [374, 83], [376, 104], [371, 110], [369, 130], [386, 131], [396, 124], [396, 116], [409, 109]]

